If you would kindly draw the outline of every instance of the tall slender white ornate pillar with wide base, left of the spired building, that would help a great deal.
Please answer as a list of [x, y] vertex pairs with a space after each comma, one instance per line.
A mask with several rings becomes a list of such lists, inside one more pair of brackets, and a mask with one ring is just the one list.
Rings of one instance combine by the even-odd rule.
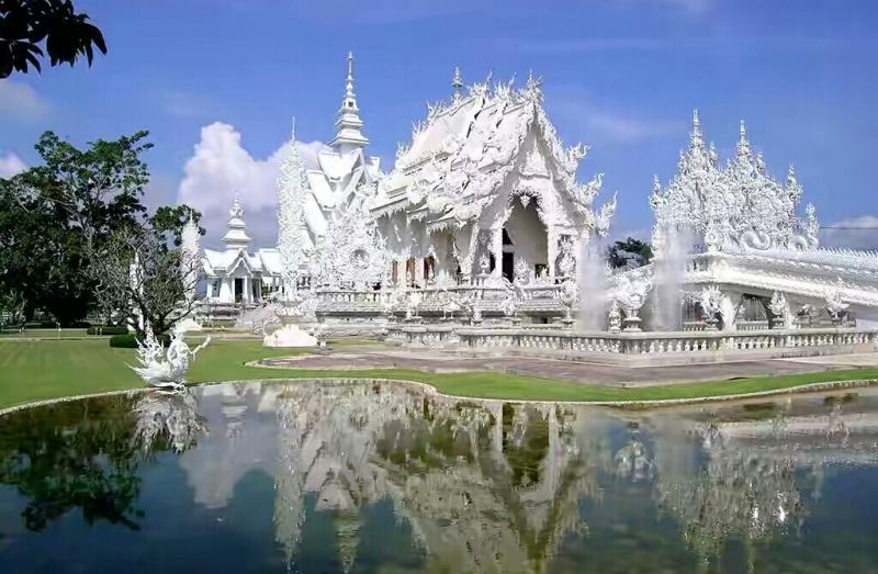
[[297, 325], [304, 313], [305, 297], [299, 292], [302, 267], [307, 260], [307, 229], [304, 203], [308, 193], [305, 162], [295, 145], [295, 119], [291, 130], [286, 154], [278, 175], [278, 250], [281, 255], [281, 280], [283, 297], [279, 316], [281, 328], [266, 335], [267, 347], [316, 347], [317, 338]]

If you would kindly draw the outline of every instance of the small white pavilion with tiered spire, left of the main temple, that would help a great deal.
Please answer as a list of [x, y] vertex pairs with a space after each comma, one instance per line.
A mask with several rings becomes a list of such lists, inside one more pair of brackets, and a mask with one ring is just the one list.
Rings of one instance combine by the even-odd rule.
[[281, 259], [277, 249], [248, 251], [250, 236], [238, 195], [228, 211], [223, 251], [204, 249], [204, 279], [211, 303], [255, 304], [280, 289]]

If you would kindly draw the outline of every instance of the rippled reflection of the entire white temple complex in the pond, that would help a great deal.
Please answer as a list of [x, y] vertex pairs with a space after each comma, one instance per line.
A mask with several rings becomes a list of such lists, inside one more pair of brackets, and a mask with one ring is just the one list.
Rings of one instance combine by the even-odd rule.
[[[548, 572], [561, 567], [553, 556], [606, 539], [608, 519], [641, 520], [631, 508], [669, 518], [661, 536], [705, 571], [731, 542], [753, 567], [775, 542], [801, 536], [826, 469], [878, 462], [869, 405], [644, 414], [446, 399], [371, 382], [204, 392], [210, 440], [180, 461], [195, 499], [219, 507], [254, 469], [273, 476], [274, 537], [291, 566], [306, 522], [323, 515], [335, 536], [326, 543], [352, 570], [381, 506], [428, 571]], [[620, 508], [619, 496], [632, 504]]]

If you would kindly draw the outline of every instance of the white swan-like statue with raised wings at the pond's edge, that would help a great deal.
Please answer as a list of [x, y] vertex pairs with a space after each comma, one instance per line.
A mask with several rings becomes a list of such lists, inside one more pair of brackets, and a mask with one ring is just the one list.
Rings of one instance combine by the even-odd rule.
[[183, 378], [189, 371], [190, 361], [210, 342], [211, 337], [209, 336], [204, 342], [190, 350], [183, 341], [183, 334], [175, 330], [171, 344], [165, 351], [161, 342], [153, 333], [153, 328], [147, 324], [144, 340], [137, 340], [137, 360], [140, 362], [140, 367], [132, 367], [132, 369], [150, 386], [180, 389], [183, 386]]

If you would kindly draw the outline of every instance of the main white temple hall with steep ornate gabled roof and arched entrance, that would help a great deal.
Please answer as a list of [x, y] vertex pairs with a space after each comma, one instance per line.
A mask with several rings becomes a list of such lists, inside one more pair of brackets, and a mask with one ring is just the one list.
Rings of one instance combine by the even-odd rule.
[[[540, 82], [463, 91], [430, 106], [370, 213], [391, 258], [391, 281], [426, 288], [472, 283], [480, 273], [554, 278], [571, 271], [595, 223], [606, 232], [615, 200], [595, 214], [601, 176], [577, 183], [587, 148], [565, 148], [542, 106]], [[585, 234], [585, 237], [584, 237]], [[571, 259], [572, 262], [572, 259]]]

